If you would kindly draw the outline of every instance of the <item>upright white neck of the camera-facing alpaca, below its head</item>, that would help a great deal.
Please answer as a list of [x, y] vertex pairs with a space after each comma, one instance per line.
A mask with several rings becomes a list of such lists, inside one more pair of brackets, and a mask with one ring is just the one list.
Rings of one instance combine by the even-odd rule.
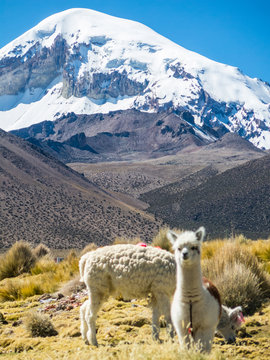
[[184, 302], [198, 301], [202, 295], [202, 273], [200, 261], [192, 266], [177, 264], [176, 290]]

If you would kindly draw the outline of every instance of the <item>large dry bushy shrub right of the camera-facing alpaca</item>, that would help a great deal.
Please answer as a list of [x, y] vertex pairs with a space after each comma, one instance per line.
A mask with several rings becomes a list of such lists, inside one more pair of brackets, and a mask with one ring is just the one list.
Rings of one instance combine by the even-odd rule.
[[202, 268], [204, 276], [214, 282], [228, 306], [241, 305], [251, 314], [270, 295], [268, 274], [257, 258], [239, 243], [224, 244], [212, 258], [203, 261]]

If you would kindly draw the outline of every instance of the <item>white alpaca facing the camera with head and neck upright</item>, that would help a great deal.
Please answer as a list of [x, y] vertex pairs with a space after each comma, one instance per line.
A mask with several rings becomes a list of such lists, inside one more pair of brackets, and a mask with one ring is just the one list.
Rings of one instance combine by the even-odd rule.
[[176, 260], [176, 291], [171, 318], [180, 346], [192, 341], [197, 348], [210, 352], [215, 330], [221, 315], [220, 296], [216, 287], [201, 274], [201, 244], [204, 227], [196, 232], [167, 234]]

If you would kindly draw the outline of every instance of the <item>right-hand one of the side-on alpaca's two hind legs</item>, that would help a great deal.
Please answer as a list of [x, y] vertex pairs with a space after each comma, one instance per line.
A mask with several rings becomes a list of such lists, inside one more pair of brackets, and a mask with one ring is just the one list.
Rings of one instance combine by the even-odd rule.
[[96, 338], [96, 319], [97, 312], [103, 302], [103, 297], [95, 292], [89, 293], [89, 304], [87, 309], [87, 340], [89, 344], [98, 346]]

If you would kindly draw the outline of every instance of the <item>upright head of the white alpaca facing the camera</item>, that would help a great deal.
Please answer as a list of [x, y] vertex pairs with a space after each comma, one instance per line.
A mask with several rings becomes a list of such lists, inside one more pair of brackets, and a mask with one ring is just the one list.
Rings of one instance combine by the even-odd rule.
[[185, 231], [182, 234], [168, 231], [167, 238], [172, 243], [177, 263], [185, 266], [198, 262], [204, 236], [205, 228], [203, 226], [195, 232]]

